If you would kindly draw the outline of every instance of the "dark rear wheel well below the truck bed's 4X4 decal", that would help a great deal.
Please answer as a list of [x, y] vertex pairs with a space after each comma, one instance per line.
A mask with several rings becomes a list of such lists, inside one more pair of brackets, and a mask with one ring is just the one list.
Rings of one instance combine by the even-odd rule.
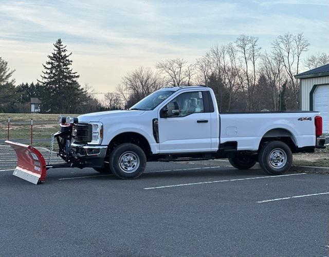
[[297, 152], [295, 137], [293, 134], [291, 134], [290, 131], [286, 129], [277, 128], [267, 131], [259, 144], [259, 150], [266, 142], [269, 141], [281, 141], [290, 147], [291, 152]]

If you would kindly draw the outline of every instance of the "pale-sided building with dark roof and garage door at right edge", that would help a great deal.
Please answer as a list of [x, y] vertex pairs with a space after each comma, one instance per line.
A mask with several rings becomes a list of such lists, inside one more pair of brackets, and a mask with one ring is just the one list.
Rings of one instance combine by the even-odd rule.
[[302, 111], [319, 111], [323, 133], [329, 134], [329, 64], [299, 73], [300, 107]]

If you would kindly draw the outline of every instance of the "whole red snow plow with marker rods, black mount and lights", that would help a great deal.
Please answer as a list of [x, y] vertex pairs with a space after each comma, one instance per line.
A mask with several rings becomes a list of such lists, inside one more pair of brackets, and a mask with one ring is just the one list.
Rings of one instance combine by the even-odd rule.
[[[13, 175], [20, 177], [23, 180], [29, 181], [33, 184], [44, 183], [46, 180], [46, 173], [49, 168], [67, 168], [67, 167], [96, 167], [102, 168], [104, 161], [99, 163], [90, 162], [90, 157], [93, 157], [94, 154], [84, 154], [83, 145], [79, 147], [72, 147], [72, 131], [75, 124], [78, 123], [78, 118], [76, 117], [65, 117], [60, 116], [60, 131], [55, 134], [52, 134], [51, 137], [51, 146], [50, 146], [50, 156], [51, 159], [52, 147], [54, 139], [57, 140], [59, 151], [57, 156], [63, 159], [63, 163], [56, 164], [46, 164], [44, 156], [41, 152], [32, 146], [32, 128], [33, 123], [31, 120], [31, 145], [24, 145], [16, 142], [9, 141], [9, 123], [10, 118], [8, 118], [8, 140], [5, 141], [7, 145], [10, 145], [16, 152], [17, 155], [17, 167], [15, 168]], [[79, 134], [78, 134], [79, 135]], [[81, 150], [82, 149], [82, 150]], [[88, 155], [88, 156], [87, 156]], [[85, 160], [85, 157], [89, 157], [88, 161]], [[89, 165], [88, 165], [89, 164]]]

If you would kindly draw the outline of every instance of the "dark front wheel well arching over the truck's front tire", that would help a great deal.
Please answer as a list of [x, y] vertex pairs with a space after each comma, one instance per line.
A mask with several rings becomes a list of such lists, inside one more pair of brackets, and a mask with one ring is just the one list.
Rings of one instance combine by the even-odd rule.
[[151, 147], [147, 139], [136, 132], [124, 132], [116, 135], [108, 144], [108, 150], [111, 152], [116, 146], [123, 143], [132, 143], [139, 146], [146, 156], [151, 155]]

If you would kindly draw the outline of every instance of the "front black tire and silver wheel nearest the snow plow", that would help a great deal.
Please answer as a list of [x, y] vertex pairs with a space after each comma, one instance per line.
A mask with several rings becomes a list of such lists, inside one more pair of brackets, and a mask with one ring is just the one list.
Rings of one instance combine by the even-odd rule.
[[137, 179], [144, 172], [145, 166], [145, 153], [135, 144], [118, 145], [109, 156], [109, 168], [122, 180]]

